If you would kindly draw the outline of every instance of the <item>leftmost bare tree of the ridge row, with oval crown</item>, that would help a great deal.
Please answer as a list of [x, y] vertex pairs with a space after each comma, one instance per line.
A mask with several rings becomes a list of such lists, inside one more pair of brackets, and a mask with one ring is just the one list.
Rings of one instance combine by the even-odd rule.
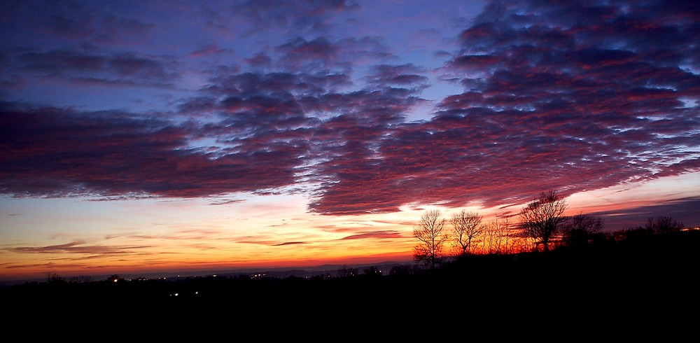
[[445, 219], [440, 210], [428, 210], [421, 216], [418, 226], [413, 229], [413, 237], [420, 241], [414, 247], [413, 258], [416, 262], [424, 261], [435, 269], [442, 262], [442, 246], [449, 239], [444, 232]]

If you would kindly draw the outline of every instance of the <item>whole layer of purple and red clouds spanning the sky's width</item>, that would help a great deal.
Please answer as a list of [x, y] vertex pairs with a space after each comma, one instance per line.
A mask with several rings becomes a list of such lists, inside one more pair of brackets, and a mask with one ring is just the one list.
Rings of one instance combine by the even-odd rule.
[[[386, 38], [330, 34], [333, 18], [361, 6], [327, 5], [241, 3], [237, 13], [265, 18], [253, 20], [266, 23], [262, 31], [286, 29], [287, 36], [239, 52], [238, 63], [198, 66], [206, 81], [197, 90], [179, 90], [169, 109], [151, 112], [10, 97], [47, 78], [174, 89], [191, 77], [193, 59], [209, 56], [79, 45], [102, 41], [89, 31], [94, 27], [80, 32], [70, 18], [49, 15], [37, 29], [54, 27], [71, 44], [17, 44], [0, 56], [0, 192], [303, 191], [310, 211], [366, 214], [406, 204], [491, 207], [543, 190], [567, 195], [700, 170], [694, 3], [489, 2], [453, 37], [456, 45], [435, 51], [449, 52], [437, 68], [401, 60]], [[144, 20], [111, 22], [141, 33], [157, 29]], [[211, 46], [212, 55], [222, 51]], [[462, 91], [429, 102], [424, 93], [441, 84]], [[416, 111], [424, 120], [409, 121]]]

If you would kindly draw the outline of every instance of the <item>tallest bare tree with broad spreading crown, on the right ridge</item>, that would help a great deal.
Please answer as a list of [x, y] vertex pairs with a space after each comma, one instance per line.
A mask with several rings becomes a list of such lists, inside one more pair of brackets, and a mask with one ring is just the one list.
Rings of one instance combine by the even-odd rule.
[[549, 241], [559, 232], [566, 222], [564, 211], [568, 208], [566, 201], [559, 198], [553, 190], [540, 193], [520, 211], [520, 228], [526, 237], [542, 244], [549, 251]]

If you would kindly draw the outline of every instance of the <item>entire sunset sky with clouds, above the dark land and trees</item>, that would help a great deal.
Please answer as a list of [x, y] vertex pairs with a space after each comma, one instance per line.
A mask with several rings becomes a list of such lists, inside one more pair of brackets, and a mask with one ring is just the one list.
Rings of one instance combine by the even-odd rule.
[[411, 260], [556, 190], [700, 225], [696, 1], [2, 1], [0, 280]]

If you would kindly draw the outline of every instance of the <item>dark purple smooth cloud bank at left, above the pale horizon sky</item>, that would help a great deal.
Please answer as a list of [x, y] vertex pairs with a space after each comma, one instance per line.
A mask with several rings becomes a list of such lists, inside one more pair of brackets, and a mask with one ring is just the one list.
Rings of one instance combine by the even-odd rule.
[[3, 103], [0, 190], [17, 196], [200, 197], [293, 183], [292, 144], [212, 155], [190, 128], [116, 111], [84, 113]]

